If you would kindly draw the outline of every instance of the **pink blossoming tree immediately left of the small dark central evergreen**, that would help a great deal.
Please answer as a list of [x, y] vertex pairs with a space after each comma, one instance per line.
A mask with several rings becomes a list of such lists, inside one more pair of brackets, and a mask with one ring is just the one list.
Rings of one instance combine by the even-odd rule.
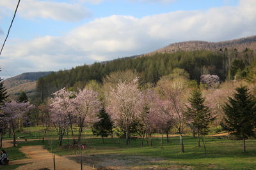
[[74, 98], [74, 107], [76, 108], [78, 131], [78, 143], [81, 143], [81, 135], [85, 125], [92, 125], [99, 121], [97, 114], [102, 108], [102, 103], [99, 101], [99, 94], [84, 88], [79, 90]]

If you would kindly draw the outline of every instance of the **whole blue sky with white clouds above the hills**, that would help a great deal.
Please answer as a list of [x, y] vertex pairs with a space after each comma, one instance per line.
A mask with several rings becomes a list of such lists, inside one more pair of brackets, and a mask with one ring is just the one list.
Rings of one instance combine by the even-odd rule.
[[[18, 0], [0, 1], [0, 45]], [[255, 0], [20, 0], [0, 77], [256, 35]]]

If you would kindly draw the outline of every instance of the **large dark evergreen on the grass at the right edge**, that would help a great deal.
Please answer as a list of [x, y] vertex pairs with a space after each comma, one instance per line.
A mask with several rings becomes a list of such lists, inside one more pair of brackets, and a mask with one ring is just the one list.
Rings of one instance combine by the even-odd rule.
[[245, 139], [254, 136], [253, 132], [256, 113], [256, 102], [247, 87], [236, 89], [233, 97], [223, 106], [225, 112], [223, 129], [237, 137], [243, 138], [243, 152], [246, 152]]

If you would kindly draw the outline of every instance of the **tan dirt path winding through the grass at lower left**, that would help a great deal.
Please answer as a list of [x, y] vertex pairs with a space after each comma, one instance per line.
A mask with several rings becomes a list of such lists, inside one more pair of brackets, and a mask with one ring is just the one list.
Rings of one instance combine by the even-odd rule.
[[[22, 146], [20, 151], [25, 153], [30, 159], [13, 160], [9, 162], [10, 165], [26, 164], [18, 167], [18, 170], [54, 169], [52, 153], [45, 150], [43, 146]], [[59, 157], [56, 155], [55, 158], [57, 170], [81, 169], [80, 164], [77, 164], [77, 162], [73, 160], [67, 159], [67, 157]], [[83, 166], [83, 169], [92, 169], [92, 167]]]

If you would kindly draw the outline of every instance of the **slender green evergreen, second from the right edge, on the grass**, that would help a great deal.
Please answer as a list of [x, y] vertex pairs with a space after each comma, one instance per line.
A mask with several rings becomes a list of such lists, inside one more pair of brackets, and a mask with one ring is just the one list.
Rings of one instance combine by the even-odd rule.
[[205, 99], [202, 97], [200, 89], [194, 89], [188, 101], [189, 106], [186, 106], [184, 115], [193, 128], [195, 128], [198, 136], [198, 146], [200, 146], [200, 136], [204, 136], [208, 133], [209, 124], [214, 120], [214, 117], [211, 116], [210, 109], [204, 105]]

